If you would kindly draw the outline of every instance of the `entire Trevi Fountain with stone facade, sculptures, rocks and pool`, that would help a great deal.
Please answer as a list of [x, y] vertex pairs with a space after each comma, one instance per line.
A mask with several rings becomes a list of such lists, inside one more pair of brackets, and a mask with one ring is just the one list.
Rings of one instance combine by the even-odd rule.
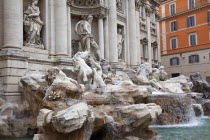
[[1, 140], [209, 140], [210, 86], [169, 78], [157, 0], [1, 0]]

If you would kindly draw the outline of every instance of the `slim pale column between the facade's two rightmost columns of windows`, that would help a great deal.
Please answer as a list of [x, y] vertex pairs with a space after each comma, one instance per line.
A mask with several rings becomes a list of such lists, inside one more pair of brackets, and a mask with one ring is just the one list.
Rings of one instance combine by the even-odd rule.
[[151, 11], [149, 10], [149, 7], [146, 10], [146, 16], [147, 16], [147, 39], [148, 39], [148, 62], [152, 64], [152, 46], [151, 46], [151, 23], [150, 23], [150, 14]]

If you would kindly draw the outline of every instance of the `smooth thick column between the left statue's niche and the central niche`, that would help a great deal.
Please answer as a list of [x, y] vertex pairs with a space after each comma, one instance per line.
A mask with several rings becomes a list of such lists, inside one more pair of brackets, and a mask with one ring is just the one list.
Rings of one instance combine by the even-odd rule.
[[55, 0], [55, 47], [56, 56], [67, 56], [67, 3], [66, 0]]

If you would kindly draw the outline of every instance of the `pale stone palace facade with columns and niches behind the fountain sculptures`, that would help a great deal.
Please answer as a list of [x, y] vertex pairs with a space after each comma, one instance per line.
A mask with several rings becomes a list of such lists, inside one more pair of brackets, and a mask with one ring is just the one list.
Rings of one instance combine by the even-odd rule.
[[30, 72], [73, 69], [83, 36], [75, 27], [88, 15], [101, 58], [122, 67], [159, 64], [158, 6], [156, 0], [1, 0], [1, 95], [20, 98], [19, 79]]

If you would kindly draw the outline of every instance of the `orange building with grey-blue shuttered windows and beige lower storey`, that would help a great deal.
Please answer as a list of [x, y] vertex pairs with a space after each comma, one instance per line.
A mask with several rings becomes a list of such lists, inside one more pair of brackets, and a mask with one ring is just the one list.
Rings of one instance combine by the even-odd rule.
[[161, 0], [161, 61], [170, 77], [200, 72], [210, 82], [210, 0]]

